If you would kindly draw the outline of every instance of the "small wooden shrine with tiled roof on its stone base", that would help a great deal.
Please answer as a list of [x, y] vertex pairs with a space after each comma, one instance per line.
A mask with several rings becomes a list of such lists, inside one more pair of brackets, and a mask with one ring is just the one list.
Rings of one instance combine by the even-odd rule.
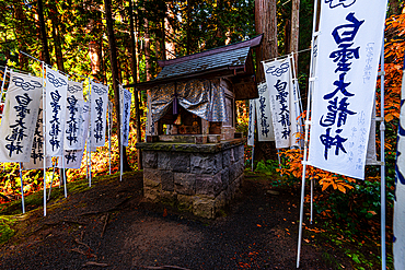
[[244, 142], [235, 132], [235, 101], [258, 97], [252, 48], [262, 35], [199, 54], [159, 61], [148, 90], [142, 150], [147, 199], [212, 219], [243, 179]]

